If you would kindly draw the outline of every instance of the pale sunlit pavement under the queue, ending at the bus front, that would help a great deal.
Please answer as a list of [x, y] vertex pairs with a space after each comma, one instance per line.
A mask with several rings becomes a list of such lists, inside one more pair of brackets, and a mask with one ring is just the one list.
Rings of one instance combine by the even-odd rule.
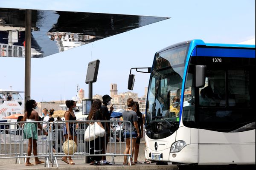
[[[84, 159], [73, 159], [76, 163], [74, 165], [66, 164], [65, 162], [58, 160], [58, 166], [56, 164], [49, 164], [49, 168], [44, 167], [44, 164], [38, 164], [34, 166], [25, 166], [22, 164], [7, 164], [8, 159], [6, 159], [6, 164], [0, 164], [0, 170], [178, 170], [177, 165], [162, 165], [158, 166], [156, 164], [137, 164], [137, 165], [123, 165], [121, 162], [117, 162], [113, 165], [95, 166], [84, 163]], [[31, 163], [33, 163], [31, 161]]]

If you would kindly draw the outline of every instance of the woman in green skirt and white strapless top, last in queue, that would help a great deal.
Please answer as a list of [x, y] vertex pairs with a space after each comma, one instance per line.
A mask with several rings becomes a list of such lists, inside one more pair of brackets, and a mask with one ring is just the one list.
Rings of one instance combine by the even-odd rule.
[[[28, 144], [28, 150], [27, 150], [27, 156], [31, 156], [32, 147], [33, 147], [33, 154], [34, 156], [37, 156], [37, 140], [38, 140], [38, 128], [41, 129], [44, 133], [44, 135], [48, 135], [48, 133], [43, 129], [41, 124], [38, 122], [37, 124], [35, 121], [39, 121], [38, 119], [38, 112], [36, 112], [34, 109], [37, 108], [37, 102], [35, 100], [28, 100], [26, 101], [26, 111], [23, 118], [25, 123], [24, 125], [24, 139], [29, 139]], [[34, 165], [29, 162], [30, 158], [26, 159], [26, 166]], [[35, 164], [42, 164], [44, 161], [40, 161], [38, 157], [35, 157]]]

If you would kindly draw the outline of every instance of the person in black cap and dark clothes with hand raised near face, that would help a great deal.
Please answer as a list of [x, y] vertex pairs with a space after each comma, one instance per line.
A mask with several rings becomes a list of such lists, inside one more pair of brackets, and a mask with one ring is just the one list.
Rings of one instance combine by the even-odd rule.
[[[112, 111], [114, 110], [113, 108], [113, 105], [111, 105], [111, 99], [112, 97], [109, 96], [108, 94], [102, 96], [102, 114], [103, 114], [103, 120], [107, 120], [109, 121], [110, 120], [110, 116], [111, 116], [111, 113]], [[108, 112], [108, 108], [107, 106], [108, 105], [111, 105], [110, 107], [110, 111]], [[102, 154], [105, 154], [106, 153], [106, 150], [107, 150], [107, 145], [108, 145], [108, 142], [109, 142], [109, 136], [110, 136], [110, 123], [105, 123], [103, 124], [103, 126], [105, 127], [105, 139], [104, 139], [104, 144], [103, 144], [103, 149], [102, 149]], [[111, 164], [109, 161], [106, 160], [106, 156], [102, 156], [102, 163], [103, 164]]]

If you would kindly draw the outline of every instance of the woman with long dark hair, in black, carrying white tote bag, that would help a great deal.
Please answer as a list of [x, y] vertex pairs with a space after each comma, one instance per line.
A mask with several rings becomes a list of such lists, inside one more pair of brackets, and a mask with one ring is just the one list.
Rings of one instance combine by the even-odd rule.
[[[103, 120], [102, 115], [102, 101], [100, 99], [94, 99], [92, 107], [89, 112], [88, 120]], [[96, 122], [102, 128], [104, 128], [101, 122]], [[91, 125], [93, 126], [93, 125]], [[95, 140], [90, 141], [90, 154], [102, 154], [104, 137], [98, 137]], [[102, 156], [91, 156], [90, 165], [104, 165], [101, 161]]]

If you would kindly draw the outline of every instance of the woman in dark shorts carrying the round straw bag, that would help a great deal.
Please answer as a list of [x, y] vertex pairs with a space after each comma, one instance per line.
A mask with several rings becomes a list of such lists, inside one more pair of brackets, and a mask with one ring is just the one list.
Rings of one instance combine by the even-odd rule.
[[[64, 113], [64, 117], [65, 117], [65, 120], [68, 121], [74, 121], [76, 120], [76, 116], [75, 116], [75, 113], [73, 112], [73, 109], [76, 108], [76, 102], [73, 101], [73, 100], [67, 100], [66, 101], [66, 106], [68, 108], [68, 110]], [[75, 123], [73, 122], [66, 122], [66, 124], [64, 125], [64, 136], [65, 136], [65, 139], [66, 140], [69, 140], [69, 139], [72, 139], [76, 142], [76, 145], [77, 145], [77, 134], [76, 134], [76, 125]], [[68, 157], [69, 159], [69, 162], [67, 161], [67, 156], [63, 156], [61, 158], [61, 161], [64, 161], [66, 162], [67, 164], [75, 164], [72, 159], [71, 159], [71, 156]]]

